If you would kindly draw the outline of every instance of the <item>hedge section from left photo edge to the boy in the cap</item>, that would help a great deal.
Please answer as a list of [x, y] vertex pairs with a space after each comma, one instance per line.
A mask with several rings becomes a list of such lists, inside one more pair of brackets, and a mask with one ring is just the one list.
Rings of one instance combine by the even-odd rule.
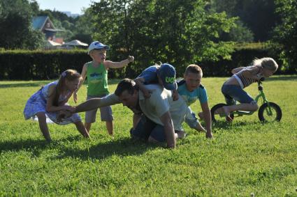
[[81, 71], [90, 61], [84, 50], [0, 52], [0, 79], [53, 79], [68, 68]]

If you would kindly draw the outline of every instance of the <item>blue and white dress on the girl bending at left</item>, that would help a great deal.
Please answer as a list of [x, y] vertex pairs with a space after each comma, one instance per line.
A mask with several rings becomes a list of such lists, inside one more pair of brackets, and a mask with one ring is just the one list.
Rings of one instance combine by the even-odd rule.
[[[57, 123], [58, 125], [67, 125], [70, 123], [76, 123], [81, 121], [80, 116], [78, 113], [74, 113], [69, 118], [64, 118], [61, 120], [61, 122], [57, 121], [57, 114], [58, 111], [55, 112], [48, 112], [46, 111], [46, 103], [48, 102], [48, 88], [52, 85], [57, 85], [58, 81], [53, 81], [50, 84], [47, 84], [43, 86], [40, 90], [38, 90], [34, 95], [31, 95], [29, 100], [26, 103], [26, 106], [24, 107], [24, 119], [28, 120], [29, 118], [36, 119], [36, 113], [43, 112], [45, 115], [50, 118], [54, 123]], [[59, 97], [59, 102], [63, 102], [67, 99], [67, 95], [64, 97]]]

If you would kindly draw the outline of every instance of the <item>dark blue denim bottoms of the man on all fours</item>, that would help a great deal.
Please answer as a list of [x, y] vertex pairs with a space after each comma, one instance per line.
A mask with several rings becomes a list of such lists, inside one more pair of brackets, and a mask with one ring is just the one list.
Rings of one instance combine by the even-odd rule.
[[130, 130], [130, 134], [144, 141], [147, 141], [150, 136], [159, 142], [166, 141], [164, 126], [154, 123], [144, 114], [141, 116], [136, 128]]

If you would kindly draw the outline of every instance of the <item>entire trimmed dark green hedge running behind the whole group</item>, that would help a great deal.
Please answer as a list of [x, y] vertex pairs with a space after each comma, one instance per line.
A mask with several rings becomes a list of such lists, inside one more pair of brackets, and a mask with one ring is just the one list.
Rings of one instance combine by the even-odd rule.
[[[230, 76], [233, 68], [247, 66], [255, 57], [265, 56], [273, 57], [265, 47], [238, 47], [232, 54], [232, 60], [222, 59], [217, 62], [197, 64], [201, 65], [205, 77]], [[277, 61], [277, 58], [275, 60]], [[59, 74], [68, 68], [81, 72], [82, 65], [88, 61], [91, 61], [91, 58], [85, 50], [0, 51], [0, 79], [57, 79]], [[186, 67], [187, 65], [175, 65], [178, 77], [182, 77]], [[139, 74], [137, 68], [140, 68], [140, 65], [136, 58], [136, 61], [127, 68], [110, 70], [108, 77], [135, 78]]]

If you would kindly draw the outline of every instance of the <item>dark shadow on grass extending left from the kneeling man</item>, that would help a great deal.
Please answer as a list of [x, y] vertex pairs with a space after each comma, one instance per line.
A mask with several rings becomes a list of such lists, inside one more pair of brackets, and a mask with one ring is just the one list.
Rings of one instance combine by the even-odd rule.
[[117, 141], [109, 141], [107, 143], [99, 143], [92, 145], [85, 150], [75, 150], [73, 148], [65, 148], [61, 150], [57, 159], [65, 157], [78, 157], [83, 160], [88, 159], [106, 159], [113, 155], [128, 156], [128, 155], [142, 155], [143, 152], [156, 148], [158, 145], [144, 143], [141, 141], [134, 141], [133, 139], [121, 139]]

